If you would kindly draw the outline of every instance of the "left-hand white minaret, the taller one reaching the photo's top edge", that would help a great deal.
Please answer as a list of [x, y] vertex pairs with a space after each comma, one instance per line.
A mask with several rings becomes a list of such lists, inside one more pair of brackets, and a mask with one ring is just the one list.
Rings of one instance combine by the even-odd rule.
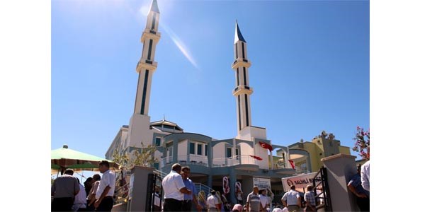
[[149, 97], [152, 84], [152, 75], [157, 69], [157, 62], [154, 61], [155, 48], [161, 37], [158, 32], [159, 9], [157, 0], [153, 0], [147, 15], [145, 31], [140, 41], [143, 43], [142, 57], [137, 63], [136, 72], [139, 73], [137, 82], [137, 93], [135, 101], [135, 114], [147, 115], [149, 112]]

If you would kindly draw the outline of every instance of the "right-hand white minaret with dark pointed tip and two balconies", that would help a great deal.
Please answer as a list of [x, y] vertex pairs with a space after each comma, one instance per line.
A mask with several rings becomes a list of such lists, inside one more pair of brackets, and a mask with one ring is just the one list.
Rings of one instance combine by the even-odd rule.
[[249, 66], [251, 66], [251, 61], [247, 59], [246, 41], [236, 22], [236, 28], [234, 29], [234, 62], [232, 64], [232, 69], [234, 69], [236, 76], [236, 88], [233, 90], [233, 95], [236, 98], [237, 104], [238, 134], [244, 127], [251, 126], [251, 103], [249, 95], [251, 95], [253, 91], [252, 88], [249, 87]]

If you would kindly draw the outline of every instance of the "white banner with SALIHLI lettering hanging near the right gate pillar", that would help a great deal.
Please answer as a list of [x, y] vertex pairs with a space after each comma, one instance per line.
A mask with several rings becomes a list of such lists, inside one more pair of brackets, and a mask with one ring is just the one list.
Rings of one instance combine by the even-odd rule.
[[[313, 177], [316, 174], [317, 172], [309, 173], [305, 175], [297, 175], [293, 177], [283, 177], [282, 178], [283, 190], [288, 192], [290, 190], [290, 187], [292, 185], [295, 185], [295, 190], [297, 190], [297, 192], [303, 192], [303, 193], [307, 192], [307, 190], [305, 190], [305, 187], [307, 187], [307, 185], [309, 184], [313, 185]], [[316, 179], [314, 180], [316, 181], [316, 184], [318, 184], [322, 179], [320, 176], [317, 176]], [[317, 189], [321, 189], [321, 188], [322, 188], [321, 186], [317, 187]]]

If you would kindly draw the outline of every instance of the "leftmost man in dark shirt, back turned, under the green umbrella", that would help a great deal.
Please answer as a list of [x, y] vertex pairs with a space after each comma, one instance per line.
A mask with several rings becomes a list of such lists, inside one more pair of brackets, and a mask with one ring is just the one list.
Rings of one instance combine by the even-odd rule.
[[64, 175], [53, 181], [51, 192], [53, 196], [52, 211], [71, 211], [75, 195], [80, 191], [74, 170], [67, 169]]

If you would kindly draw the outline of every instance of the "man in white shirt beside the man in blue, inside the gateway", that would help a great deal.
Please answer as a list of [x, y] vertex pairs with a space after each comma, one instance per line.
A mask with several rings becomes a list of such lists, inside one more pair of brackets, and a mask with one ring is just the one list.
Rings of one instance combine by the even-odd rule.
[[180, 172], [181, 165], [174, 163], [171, 172], [162, 179], [164, 211], [181, 211], [183, 194], [192, 194], [192, 191], [185, 187]]

